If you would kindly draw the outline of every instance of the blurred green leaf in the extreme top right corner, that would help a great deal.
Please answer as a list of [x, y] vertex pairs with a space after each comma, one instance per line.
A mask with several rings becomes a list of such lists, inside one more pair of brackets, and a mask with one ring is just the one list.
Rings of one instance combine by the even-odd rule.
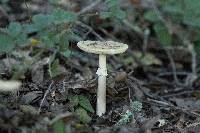
[[200, 27], [200, 0], [184, 0], [183, 22], [186, 25]]

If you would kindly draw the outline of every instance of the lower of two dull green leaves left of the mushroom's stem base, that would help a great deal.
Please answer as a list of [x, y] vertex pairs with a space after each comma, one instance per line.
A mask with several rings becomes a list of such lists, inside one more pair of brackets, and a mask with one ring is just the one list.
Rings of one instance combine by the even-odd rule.
[[78, 115], [79, 120], [83, 123], [89, 123], [92, 120], [92, 118], [87, 114], [87, 111], [83, 108], [78, 108], [75, 112]]

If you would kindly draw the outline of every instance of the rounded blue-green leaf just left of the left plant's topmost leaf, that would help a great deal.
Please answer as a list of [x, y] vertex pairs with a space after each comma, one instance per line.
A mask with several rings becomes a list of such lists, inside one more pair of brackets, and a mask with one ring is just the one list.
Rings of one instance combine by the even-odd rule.
[[33, 16], [32, 20], [34, 27], [39, 31], [52, 24], [54, 19], [50, 15], [38, 14]]

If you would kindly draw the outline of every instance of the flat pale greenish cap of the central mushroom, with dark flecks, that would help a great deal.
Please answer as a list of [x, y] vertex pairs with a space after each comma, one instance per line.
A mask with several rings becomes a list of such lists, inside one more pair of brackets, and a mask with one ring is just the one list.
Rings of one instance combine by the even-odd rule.
[[114, 41], [80, 41], [77, 46], [88, 53], [94, 54], [120, 54], [128, 49], [128, 45]]

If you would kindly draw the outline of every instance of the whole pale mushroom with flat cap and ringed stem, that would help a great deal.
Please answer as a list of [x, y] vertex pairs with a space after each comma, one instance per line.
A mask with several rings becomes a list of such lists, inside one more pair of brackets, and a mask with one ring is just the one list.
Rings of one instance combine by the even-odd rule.
[[106, 55], [123, 53], [128, 49], [128, 45], [114, 41], [80, 41], [77, 46], [85, 52], [99, 54], [99, 68], [96, 72], [98, 75], [96, 113], [102, 116], [106, 112]]

